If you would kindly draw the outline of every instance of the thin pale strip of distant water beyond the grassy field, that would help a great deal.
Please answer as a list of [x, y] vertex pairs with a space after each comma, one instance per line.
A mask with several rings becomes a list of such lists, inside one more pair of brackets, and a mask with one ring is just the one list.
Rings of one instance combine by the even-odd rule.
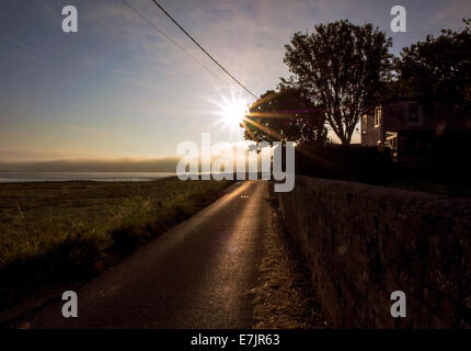
[[164, 172], [0, 172], [0, 183], [64, 182], [88, 180], [96, 182], [142, 182], [172, 177]]

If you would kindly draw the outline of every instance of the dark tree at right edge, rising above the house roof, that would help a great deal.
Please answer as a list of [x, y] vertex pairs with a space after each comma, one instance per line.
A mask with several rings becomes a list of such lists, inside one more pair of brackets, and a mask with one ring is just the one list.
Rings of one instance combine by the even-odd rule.
[[441, 30], [402, 49], [395, 60], [401, 94], [416, 95], [425, 105], [471, 104], [471, 19], [463, 22], [461, 31]]

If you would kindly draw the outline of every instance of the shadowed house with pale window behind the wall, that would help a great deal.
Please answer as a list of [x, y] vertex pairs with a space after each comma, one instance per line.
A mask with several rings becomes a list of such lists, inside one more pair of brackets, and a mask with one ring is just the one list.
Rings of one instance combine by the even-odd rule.
[[468, 135], [470, 111], [401, 98], [376, 106], [361, 117], [361, 146], [383, 146], [400, 161], [426, 160], [443, 135]]

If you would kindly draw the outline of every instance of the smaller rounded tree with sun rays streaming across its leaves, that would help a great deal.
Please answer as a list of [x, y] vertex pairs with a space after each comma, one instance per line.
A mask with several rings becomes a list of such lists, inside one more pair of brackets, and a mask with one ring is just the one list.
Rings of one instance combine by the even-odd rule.
[[268, 90], [249, 110], [243, 123], [245, 138], [260, 141], [325, 144], [328, 131], [323, 110], [295, 88]]

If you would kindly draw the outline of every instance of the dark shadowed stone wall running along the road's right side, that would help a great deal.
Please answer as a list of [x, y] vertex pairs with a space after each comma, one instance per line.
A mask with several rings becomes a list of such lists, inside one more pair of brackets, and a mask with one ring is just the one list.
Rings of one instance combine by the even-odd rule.
[[471, 326], [471, 200], [302, 176], [276, 195], [334, 327]]

